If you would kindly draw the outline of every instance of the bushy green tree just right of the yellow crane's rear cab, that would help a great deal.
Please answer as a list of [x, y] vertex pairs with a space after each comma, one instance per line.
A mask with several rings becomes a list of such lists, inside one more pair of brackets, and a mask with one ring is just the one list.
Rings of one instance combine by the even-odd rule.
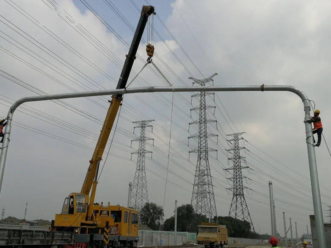
[[163, 207], [154, 202], [146, 202], [140, 211], [141, 224], [152, 230], [159, 230], [163, 216]]

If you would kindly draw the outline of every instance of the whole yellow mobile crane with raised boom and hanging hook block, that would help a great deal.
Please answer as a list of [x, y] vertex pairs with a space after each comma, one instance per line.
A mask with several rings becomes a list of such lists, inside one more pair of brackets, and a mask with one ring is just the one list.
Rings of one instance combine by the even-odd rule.
[[[117, 89], [126, 87], [141, 37], [152, 14], [155, 14], [153, 6], [143, 6]], [[151, 53], [150, 44], [146, 50]], [[121, 102], [122, 95], [112, 96], [83, 186], [79, 193], [70, 193], [65, 198], [61, 214], [56, 214], [52, 221], [51, 230], [75, 233], [75, 245], [79, 247], [137, 247], [138, 212], [131, 208], [111, 206], [109, 202], [106, 206], [102, 202], [100, 205], [94, 203], [100, 161]]]

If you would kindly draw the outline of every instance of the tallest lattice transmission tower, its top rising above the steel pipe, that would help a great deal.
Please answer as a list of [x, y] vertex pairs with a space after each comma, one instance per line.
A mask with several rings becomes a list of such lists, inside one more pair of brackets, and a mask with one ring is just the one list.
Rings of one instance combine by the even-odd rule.
[[[205, 86], [207, 83], [213, 82], [213, 77], [215, 75], [217, 75], [217, 73], [205, 79], [196, 79], [193, 77], [189, 77], [189, 79], [193, 80], [193, 85], [199, 84], [200, 86]], [[218, 139], [218, 135], [209, 133], [207, 131], [207, 124], [209, 123], [216, 123], [216, 129], [217, 129], [217, 121], [212, 119], [207, 119], [207, 109], [214, 109], [215, 112], [215, 106], [206, 104], [206, 96], [209, 95], [214, 95], [214, 93], [199, 92], [197, 94], [192, 95], [192, 99], [194, 97], [199, 99], [200, 104], [199, 106], [194, 107], [190, 110], [191, 112], [192, 110], [197, 111], [199, 114], [199, 119], [189, 123], [189, 126], [193, 124], [198, 125], [198, 133], [188, 137], [188, 140], [198, 139], [198, 146], [193, 150], [189, 151], [189, 154], [192, 152], [198, 154], [198, 161], [194, 176], [191, 204], [196, 214], [206, 215], [207, 218], [213, 220], [213, 217], [217, 216], [217, 211], [215, 205], [212, 176], [210, 173], [208, 153], [211, 151], [217, 152], [217, 150], [208, 147], [208, 138], [217, 137]]]

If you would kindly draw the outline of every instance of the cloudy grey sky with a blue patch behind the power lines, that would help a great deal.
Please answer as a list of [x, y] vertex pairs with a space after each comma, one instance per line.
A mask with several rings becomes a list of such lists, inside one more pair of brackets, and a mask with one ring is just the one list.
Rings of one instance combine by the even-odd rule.
[[[85, 5], [83, 4], [85, 3]], [[88, 3], [89, 5], [87, 5]], [[0, 2], [0, 118], [9, 106], [25, 96], [115, 89], [133, 36], [139, 12], [146, 1], [36, 0]], [[321, 111], [326, 142], [330, 105], [330, 10], [326, 1], [149, 1], [155, 6], [154, 46], [157, 64], [174, 86], [191, 85], [188, 77], [218, 73], [214, 85], [292, 85], [303, 90]], [[136, 5], [136, 6], [135, 6]], [[94, 15], [87, 6], [95, 11]], [[117, 13], [117, 14], [116, 14]], [[97, 18], [99, 17], [99, 19]], [[100, 21], [101, 20], [101, 21]], [[162, 24], [162, 22], [165, 26]], [[125, 23], [128, 25], [126, 25]], [[169, 32], [167, 31], [169, 30]], [[147, 30], [143, 38], [147, 38]], [[142, 41], [131, 76], [142, 68], [147, 55]], [[201, 73], [200, 73], [201, 72]], [[130, 87], [166, 86], [151, 67]], [[131, 81], [131, 80], [130, 80]], [[64, 198], [79, 192], [110, 96], [26, 103], [13, 119], [10, 147], [0, 194], [5, 217], [54, 219]], [[190, 93], [174, 96], [172, 139], [165, 218], [173, 215], [174, 201], [191, 202], [197, 144], [187, 137], [196, 130], [190, 109], [198, 102]], [[270, 233], [268, 181], [273, 182], [277, 230], [284, 235], [283, 215], [306, 233], [313, 214], [304, 111], [301, 100], [289, 92], [217, 93], [217, 130], [209, 124], [209, 156], [217, 214], [227, 216], [231, 203], [231, 175], [227, 134], [245, 132], [241, 155], [251, 169], [243, 170], [245, 197], [256, 231]], [[146, 145], [150, 202], [163, 205], [170, 130], [171, 93], [124, 96], [118, 128], [103, 167], [96, 202], [127, 204], [128, 183], [136, 168], [138, 144], [131, 140], [133, 121], [153, 119], [155, 144]], [[110, 144], [110, 143], [109, 143]], [[109, 146], [106, 147], [108, 151]], [[148, 157], [149, 154], [147, 154]], [[104, 156], [105, 158], [105, 156]], [[317, 168], [325, 222], [331, 205], [330, 154], [325, 142], [316, 148]], [[105, 161], [105, 159], [103, 160]], [[310, 226], [309, 226], [310, 230]]]

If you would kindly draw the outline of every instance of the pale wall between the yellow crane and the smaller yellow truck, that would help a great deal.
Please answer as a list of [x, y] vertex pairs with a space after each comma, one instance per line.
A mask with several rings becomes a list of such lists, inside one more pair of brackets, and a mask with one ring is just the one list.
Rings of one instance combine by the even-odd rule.
[[[174, 235], [172, 233], [149, 233], [147, 231], [138, 231], [139, 242], [138, 246], [169, 246], [174, 243]], [[181, 245], [187, 241], [186, 234], [177, 234], [177, 245]]]

